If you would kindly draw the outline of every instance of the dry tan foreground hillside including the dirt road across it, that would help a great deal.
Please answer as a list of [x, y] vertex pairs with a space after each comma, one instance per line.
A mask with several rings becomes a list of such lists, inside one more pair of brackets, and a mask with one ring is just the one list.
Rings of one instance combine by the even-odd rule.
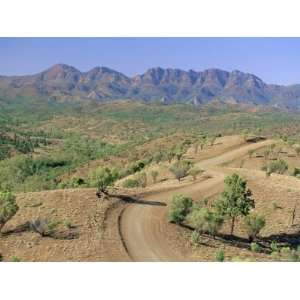
[[[255, 212], [266, 218], [262, 237], [293, 237], [298, 241], [299, 228], [291, 226], [290, 219], [300, 199], [300, 180], [284, 175], [266, 177], [251, 167], [251, 160], [259, 158], [248, 157], [249, 150], [259, 152], [273, 143], [245, 143], [238, 136], [219, 138], [214, 146], [197, 155], [192, 149], [185, 154], [205, 170], [197, 180], [188, 176], [178, 183], [168, 177], [168, 166], [161, 163], [155, 166], [162, 174], [158, 183], [145, 189], [117, 189], [109, 200], [99, 200], [93, 189], [19, 194], [21, 209], [3, 229], [7, 234], [0, 238], [0, 253], [4, 261], [13, 257], [21, 261], [214, 261], [216, 250], [222, 247], [228, 261], [274, 260], [269, 254], [250, 251], [244, 243], [246, 233], [239, 224], [234, 243], [226, 238], [207, 237], [194, 247], [190, 244], [191, 229], [167, 221], [168, 204], [174, 194], [191, 196], [194, 201], [206, 198], [211, 203], [222, 191], [225, 176], [238, 173], [247, 179], [253, 192]], [[247, 163], [241, 167], [242, 160]], [[299, 210], [298, 206], [297, 216]], [[18, 230], [36, 217], [58, 221], [57, 236], [40, 237]], [[295, 224], [299, 221], [298, 216]], [[228, 232], [225, 223], [221, 233], [226, 237]]]

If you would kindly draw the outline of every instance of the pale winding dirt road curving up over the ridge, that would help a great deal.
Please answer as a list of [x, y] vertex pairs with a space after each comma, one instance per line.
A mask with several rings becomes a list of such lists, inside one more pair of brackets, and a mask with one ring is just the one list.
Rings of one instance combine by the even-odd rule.
[[[196, 165], [212, 175], [206, 180], [198, 180], [178, 187], [155, 191], [143, 197], [144, 203], [130, 204], [123, 211], [120, 219], [120, 234], [133, 261], [188, 261], [188, 257], [174, 251], [168, 244], [164, 234], [166, 226], [166, 205], [171, 201], [174, 193], [182, 193], [194, 199], [209, 197], [222, 190], [225, 172], [220, 166], [223, 163], [242, 157], [250, 149], [259, 149], [272, 144], [267, 140], [241, 146], [238, 149], [225, 152], [219, 156], [203, 160]], [[161, 202], [162, 205], [158, 205]]]

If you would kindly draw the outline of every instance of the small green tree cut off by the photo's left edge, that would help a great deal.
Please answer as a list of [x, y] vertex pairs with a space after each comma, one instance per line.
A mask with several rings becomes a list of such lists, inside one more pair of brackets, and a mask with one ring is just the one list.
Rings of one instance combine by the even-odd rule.
[[5, 223], [19, 210], [16, 197], [11, 192], [0, 192], [0, 234]]

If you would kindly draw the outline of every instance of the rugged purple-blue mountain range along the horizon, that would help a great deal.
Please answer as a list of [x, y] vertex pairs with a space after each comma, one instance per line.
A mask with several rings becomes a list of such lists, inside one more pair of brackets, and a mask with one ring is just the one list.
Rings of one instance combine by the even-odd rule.
[[266, 84], [240, 71], [151, 68], [134, 77], [106, 67], [88, 72], [64, 64], [26, 76], [0, 76], [0, 95], [45, 99], [109, 101], [132, 99], [201, 105], [214, 99], [234, 103], [300, 108], [300, 84]]

